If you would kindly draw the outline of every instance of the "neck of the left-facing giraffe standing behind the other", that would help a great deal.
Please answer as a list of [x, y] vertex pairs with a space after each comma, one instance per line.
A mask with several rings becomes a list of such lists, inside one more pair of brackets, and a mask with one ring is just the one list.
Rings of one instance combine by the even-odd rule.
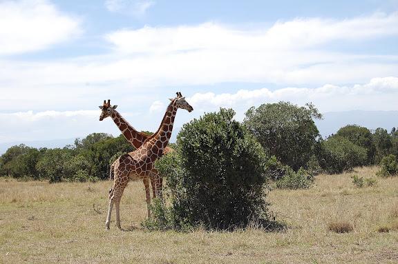
[[140, 148], [142, 143], [148, 138], [144, 133], [135, 130], [116, 110], [113, 110], [111, 118], [117, 125], [117, 128], [120, 129], [120, 132], [122, 132], [124, 138], [127, 139], [134, 148]]

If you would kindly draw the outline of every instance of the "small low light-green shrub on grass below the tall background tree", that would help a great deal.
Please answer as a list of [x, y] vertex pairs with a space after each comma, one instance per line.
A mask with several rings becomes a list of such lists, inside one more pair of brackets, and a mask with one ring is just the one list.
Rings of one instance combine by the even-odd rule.
[[307, 189], [314, 183], [314, 176], [300, 168], [298, 172], [294, 172], [292, 168], [286, 167], [286, 174], [282, 179], [275, 182], [278, 189]]

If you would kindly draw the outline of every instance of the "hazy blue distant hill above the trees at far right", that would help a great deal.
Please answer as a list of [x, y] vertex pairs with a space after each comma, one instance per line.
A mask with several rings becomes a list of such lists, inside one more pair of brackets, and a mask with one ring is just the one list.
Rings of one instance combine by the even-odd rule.
[[335, 134], [345, 125], [361, 125], [370, 130], [385, 128], [390, 132], [392, 127], [398, 127], [398, 111], [326, 112], [323, 120], [316, 120], [315, 123], [323, 138]]

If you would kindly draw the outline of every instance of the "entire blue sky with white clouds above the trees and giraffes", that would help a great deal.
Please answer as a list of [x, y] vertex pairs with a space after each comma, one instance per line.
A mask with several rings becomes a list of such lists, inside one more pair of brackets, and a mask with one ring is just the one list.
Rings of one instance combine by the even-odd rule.
[[176, 91], [176, 130], [276, 101], [397, 111], [397, 72], [398, 1], [0, 0], [0, 143], [117, 135], [104, 99], [155, 130]]

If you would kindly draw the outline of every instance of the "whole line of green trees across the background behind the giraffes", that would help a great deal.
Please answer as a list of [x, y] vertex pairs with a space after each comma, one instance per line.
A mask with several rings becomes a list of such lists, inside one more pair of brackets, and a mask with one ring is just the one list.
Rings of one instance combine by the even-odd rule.
[[[323, 139], [314, 119], [321, 114], [312, 104], [303, 107], [279, 102], [250, 108], [240, 125], [250, 132], [269, 156], [269, 176], [278, 179], [301, 170], [341, 173], [354, 166], [379, 164], [384, 156], [398, 156], [398, 130], [374, 131], [347, 125]], [[221, 125], [221, 124], [219, 124]], [[220, 133], [217, 125], [209, 131]], [[150, 132], [147, 132], [150, 134]], [[180, 132], [181, 133], [181, 132]], [[201, 135], [203, 136], [203, 135]], [[219, 134], [221, 140], [227, 134]], [[213, 145], [208, 145], [211, 148]], [[176, 146], [175, 146], [176, 147]], [[205, 146], [200, 146], [205, 148]], [[64, 148], [15, 145], [0, 156], [0, 176], [58, 181], [108, 179], [110, 164], [134, 148], [122, 135], [93, 133]]]

